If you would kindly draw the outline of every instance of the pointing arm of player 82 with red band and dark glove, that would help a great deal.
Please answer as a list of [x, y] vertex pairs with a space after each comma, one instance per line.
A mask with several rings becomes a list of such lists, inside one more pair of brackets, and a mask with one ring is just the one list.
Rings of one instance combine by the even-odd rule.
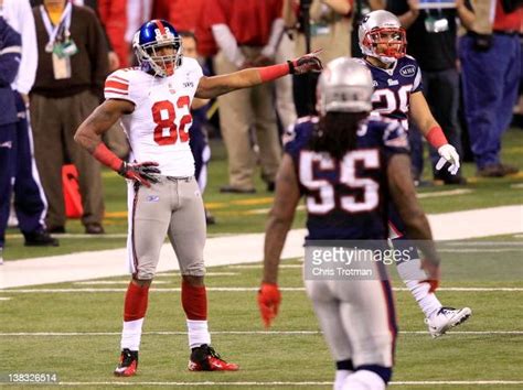
[[213, 77], [204, 76], [200, 79], [195, 97], [212, 99], [236, 89], [254, 87], [289, 74], [299, 75], [308, 72], [320, 72], [322, 64], [318, 54], [319, 52], [306, 54], [299, 58], [287, 61], [285, 64], [254, 67]]

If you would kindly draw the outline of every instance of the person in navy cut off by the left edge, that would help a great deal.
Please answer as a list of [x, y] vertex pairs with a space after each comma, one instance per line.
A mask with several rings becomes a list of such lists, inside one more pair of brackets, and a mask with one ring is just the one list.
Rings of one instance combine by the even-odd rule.
[[22, 52], [20, 34], [0, 18], [0, 263], [9, 218], [12, 188], [13, 142], [17, 131], [17, 104], [11, 83], [17, 78]]

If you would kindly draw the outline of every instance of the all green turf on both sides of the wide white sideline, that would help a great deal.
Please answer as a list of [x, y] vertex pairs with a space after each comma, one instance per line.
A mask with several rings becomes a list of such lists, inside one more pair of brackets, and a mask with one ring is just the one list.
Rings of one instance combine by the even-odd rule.
[[[210, 227], [210, 235], [263, 231], [264, 209], [270, 207], [270, 194], [264, 192], [262, 182], [257, 183], [258, 194], [255, 195], [220, 194], [220, 185], [225, 184], [226, 162], [220, 145], [214, 145], [213, 153], [205, 201], [218, 224]], [[523, 131], [505, 134], [503, 153], [505, 162], [523, 169]], [[470, 163], [466, 164], [465, 172], [472, 178], [467, 186], [420, 189], [420, 194], [470, 189], [461, 195], [442, 193], [421, 197], [427, 213], [523, 204], [522, 175], [476, 180]], [[18, 230], [11, 229], [6, 260], [124, 247], [127, 229], [125, 184], [111, 172], [104, 172], [104, 183], [107, 236], [85, 237], [81, 235], [79, 223], [73, 220], [67, 224], [72, 235], [61, 237], [61, 247], [39, 249], [24, 248]], [[302, 227], [303, 219], [305, 213], [298, 213], [295, 227]], [[448, 278], [444, 278], [438, 297], [444, 305], [469, 306], [473, 315], [438, 339], [430, 338], [421, 312], [392, 270], [401, 331], [393, 381], [409, 382], [394, 384], [394, 388], [523, 389], [523, 236], [506, 235], [482, 241], [498, 245], [483, 252], [471, 248], [444, 256], [447, 261], [444, 275]], [[65, 387], [89, 389], [127, 384], [140, 389], [160, 386], [224, 390], [330, 389], [334, 368], [301, 289], [301, 262], [293, 259], [284, 264], [287, 267], [280, 271], [280, 286], [300, 290], [282, 292], [280, 314], [269, 333], [262, 325], [256, 304], [262, 272], [256, 267], [259, 264], [209, 270], [206, 284], [213, 345], [226, 360], [241, 365], [238, 372], [194, 373], [186, 370], [189, 351], [180, 303], [180, 278], [172, 272], [159, 274], [153, 283], [139, 372], [126, 379], [115, 378], [111, 372], [119, 356], [127, 277], [0, 290], [0, 381], [3, 381], [0, 387], [8, 384], [7, 373], [55, 372]], [[476, 273], [469, 274], [468, 267]], [[504, 270], [501, 272], [503, 278], [488, 278], [493, 267], [499, 272]], [[510, 272], [511, 268], [514, 272]], [[238, 290], [216, 290], [223, 288]], [[456, 291], [456, 288], [468, 290]], [[478, 381], [488, 382], [480, 386]], [[282, 384], [270, 384], [275, 382]], [[11, 384], [11, 388], [25, 387]]]

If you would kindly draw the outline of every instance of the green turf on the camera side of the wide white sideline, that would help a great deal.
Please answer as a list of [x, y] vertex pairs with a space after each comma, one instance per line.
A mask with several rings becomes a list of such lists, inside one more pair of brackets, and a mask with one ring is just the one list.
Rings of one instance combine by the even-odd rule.
[[[499, 245], [489, 241], [480, 248], [488, 252], [485, 248], [494, 245], [495, 252], [508, 248], [509, 241], [513, 249], [503, 258], [521, 266], [515, 256], [522, 253], [522, 238], [503, 237]], [[476, 256], [473, 249], [449, 253], [447, 259], [470, 264]], [[186, 370], [180, 278], [173, 272], [159, 274], [153, 282], [136, 377], [111, 375], [119, 354], [125, 277], [3, 291], [0, 372], [55, 372], [64, 386], [92, 388], [134, 383], [141, 388], [329, 389], [333, 364], [302, 289], [301, 262], [295, 259], [282, 264], [284, 301], [269, 331], [262, 326], [256, 305], [260, 264], [209, 270], [213, 345], [225, 359], [241, 365], [238, 372]], [[391, 273], [395, 275], [394, 270]], [[482, 388], [523, 388], [521, 269], [500, 281], [462, 279], [444, 282], [438, 296], [446, 305], [470, 306], [473, 315], [437, 339], [426, 332], [410, 293], [394, 282], [401, 331], [395, 388], [469, 389], [480, 383]]]

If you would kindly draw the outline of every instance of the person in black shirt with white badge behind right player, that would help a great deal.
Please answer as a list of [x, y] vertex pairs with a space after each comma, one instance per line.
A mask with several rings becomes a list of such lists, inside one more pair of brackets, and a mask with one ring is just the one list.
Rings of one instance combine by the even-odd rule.
[[[420, 10], [418, 0], [388, 0], [387, 10], [396, 14], [407, 30], [407, 53], [421, 68], [424, 95], [437, 122], [444, 129], [449, 143], [461, 152], [461, 130], [458, 121], [459, 73], [457, 68], [457, 23], [459, 18], [466, 28], [474, 21], [469, 0], [457, 0], [456, 8]], [[414, 177], [420, 181], [423, 173], [423, 142], [416, 126], [410, 126], [410, 149]], [[456, 175], [447, 170], [436, 170], [439, 154], [430, 148], [433, 176], [445, 184], [465, 184], [461, 172]]]

